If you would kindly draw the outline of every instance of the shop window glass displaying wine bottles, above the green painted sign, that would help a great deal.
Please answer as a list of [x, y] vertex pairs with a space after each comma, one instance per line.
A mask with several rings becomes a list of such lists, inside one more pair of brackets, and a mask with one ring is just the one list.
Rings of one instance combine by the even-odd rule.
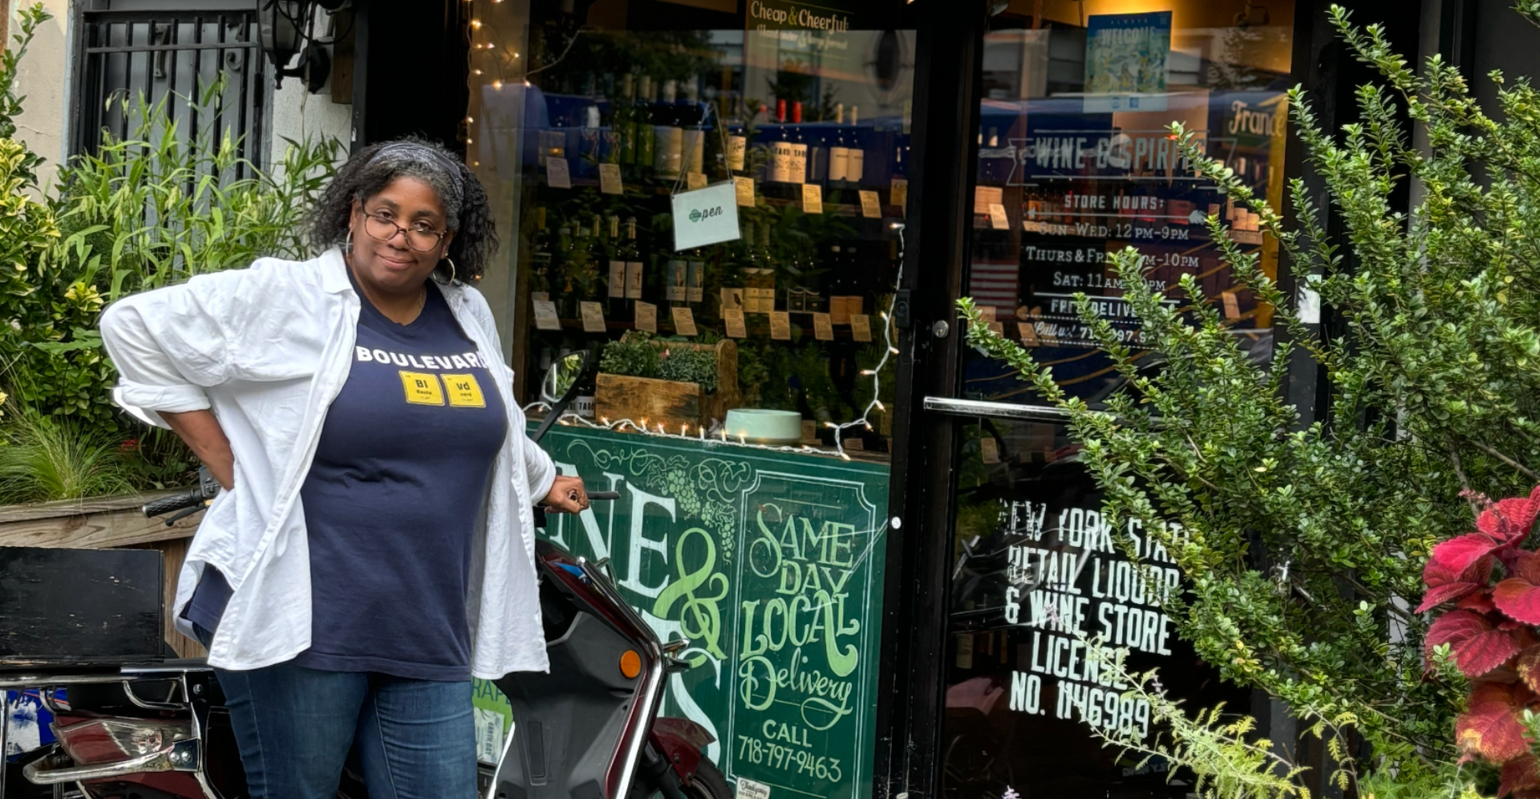
[[[467, 152], [505, 214], [521, 399], [599, 346], [596, 423], [827, 451], [865, 414], [845, 450], [881, 457], [913, 31], [779, 2], [578, 6], [477, 0], [473, 25]], [[718, 243], [685, 242], [724, 216]]]

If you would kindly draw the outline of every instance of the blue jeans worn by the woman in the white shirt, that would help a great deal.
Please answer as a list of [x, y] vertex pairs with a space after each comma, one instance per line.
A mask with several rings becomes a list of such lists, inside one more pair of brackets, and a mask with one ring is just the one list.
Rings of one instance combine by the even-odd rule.
[[474, 799], [471, 682], [279, 664], [214, 670], [251, 799], [336, 799], [354, 744], [370, 799]]

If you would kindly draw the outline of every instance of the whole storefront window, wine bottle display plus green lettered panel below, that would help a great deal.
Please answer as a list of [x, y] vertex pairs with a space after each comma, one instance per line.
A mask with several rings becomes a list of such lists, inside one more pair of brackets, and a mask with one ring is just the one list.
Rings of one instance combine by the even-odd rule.
[[471, 6], [519, 400], [602, 351], [541, 446], [621, 499], [539, 536], [681, 645], [662, 713], [741, 794], [870, 796], [915, 32], [881, 3]]

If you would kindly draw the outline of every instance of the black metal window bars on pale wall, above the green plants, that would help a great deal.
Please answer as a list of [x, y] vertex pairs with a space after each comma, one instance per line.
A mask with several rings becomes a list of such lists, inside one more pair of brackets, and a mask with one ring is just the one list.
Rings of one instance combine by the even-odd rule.
[[179, 145], [196, 146], [202, 132], [219, 146], [228, 135], [242, 159], [263, 168], [271, 68], [257, 46], [256, 3], [156, 5], [89, 0], [77, 11], [71, 152], [136, 137], [142, 108], [165, 103]]

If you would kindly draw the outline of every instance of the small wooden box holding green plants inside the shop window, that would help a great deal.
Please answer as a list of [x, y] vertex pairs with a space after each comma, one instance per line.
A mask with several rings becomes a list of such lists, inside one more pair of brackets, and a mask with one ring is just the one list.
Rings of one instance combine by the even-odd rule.
[[[707, 349], [705, 345], [664, 342], [661, 346]], [[716, 349], [716, 391], [707, 394], [699, 383], [654, 380], [651, 377], [625, 377], [599, 374], [594, 388], [594, 416], [619, 422], [647, 420], [650, 430], [664, 425], [668, 433], [710, 428], [711, 420], [727, 420], [727, 411], [738, 406], [738, 345], [724, 339]]]

